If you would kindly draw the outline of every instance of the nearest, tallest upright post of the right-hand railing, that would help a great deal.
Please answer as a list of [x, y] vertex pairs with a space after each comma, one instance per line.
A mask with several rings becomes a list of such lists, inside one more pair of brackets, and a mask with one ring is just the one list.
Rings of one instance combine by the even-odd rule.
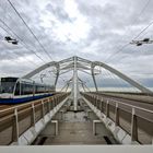
[[137, 126], [137, 116], [136, 108], [132, 107], [132, 117], [131, 117], [131, 141], [138, 140], [138, 126]]

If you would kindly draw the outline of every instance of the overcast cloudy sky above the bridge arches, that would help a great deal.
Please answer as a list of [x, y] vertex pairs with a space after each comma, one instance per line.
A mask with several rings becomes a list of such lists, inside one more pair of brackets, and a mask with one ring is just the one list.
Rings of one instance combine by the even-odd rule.
[[[10, 1], [51, 59], [98, 60], [153, 86], [153, 45], [129, 45], [153, 22], [153, 0]], [[7, 43], [8, 35], [19, 45]], [[153, 25], [137, 39], [145, 37], [153, 39]], [[22, 76], [50, 61], [45, 50], [8, 0], [0, 0], [0, 76]]]

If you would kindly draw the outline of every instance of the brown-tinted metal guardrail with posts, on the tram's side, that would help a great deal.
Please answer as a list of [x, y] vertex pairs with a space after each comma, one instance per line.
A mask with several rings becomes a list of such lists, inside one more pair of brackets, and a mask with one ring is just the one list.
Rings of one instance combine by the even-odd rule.
[[20, 136], [35, 127], [38, 120], [45, 118], [68, 95], [69, 93], [57, 94], [0, 110], [0, 145], [17, 142]]

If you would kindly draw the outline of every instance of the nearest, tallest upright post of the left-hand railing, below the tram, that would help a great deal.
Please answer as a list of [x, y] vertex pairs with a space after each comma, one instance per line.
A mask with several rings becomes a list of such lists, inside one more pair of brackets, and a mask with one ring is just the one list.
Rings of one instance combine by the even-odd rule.
[[17, 108], [14, 109], [14, 119], [13, 119], [13, 127], [12, 127], [12, 140], [13, 140], [13, 142], [19, 143], [19, 115], [17, 115]]

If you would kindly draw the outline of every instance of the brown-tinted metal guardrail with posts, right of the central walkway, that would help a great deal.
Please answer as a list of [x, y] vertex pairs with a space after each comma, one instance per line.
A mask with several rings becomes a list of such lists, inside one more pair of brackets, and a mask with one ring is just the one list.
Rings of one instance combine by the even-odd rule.
[[[92, 93], [82, 93], [96, 108], [131, 136], [131, 141], [153, 143], [153, 110]], [[125, 123], [125, 125], [123, 125]]]

